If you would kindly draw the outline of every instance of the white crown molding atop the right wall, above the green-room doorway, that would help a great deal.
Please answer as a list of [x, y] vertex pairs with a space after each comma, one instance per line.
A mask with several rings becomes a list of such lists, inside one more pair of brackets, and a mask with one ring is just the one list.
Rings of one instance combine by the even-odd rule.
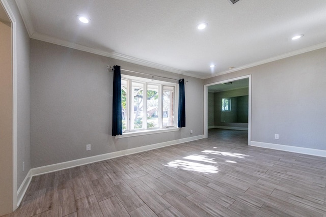
[[281, 55], [278, 55], [278, 56], [263, 59], [263, 60], [255, 62], [255, 63], [240, 66], [240, 67], [237, 67], [237, 68], [232, 69], [232, 70], [219, 72], [219, 73], [216, 73], [216, 74], [214, 74], [212, 76], [202, 77], [202, 79], [208, 79], [208, 78], [213, 78], [213, 77], [220, 76], [220, 75], [225, 75], [225, 74], [228, 74], [228, 73], [231, 73], [231, 72], [236, 72], [236, 71], [240, 71], [240, 70], [243, 70], [243, 69], [248, 69], [248, 68], [251, 68], [251, 67], [267, 64], [267, 63], [270, 63], [270, 62], [273, 62], [273, 61], [276, 61], [276, 60], [284, 59], [284, 58], [287, 58], [287, 57], [295, 56], [295, 55], [306, 53], [306, 52], [313, 51], [313, 50], [318, 50], [318, 49], [325, 48], [325, 47], [326, 47], [326, 42], [323, 42], [323, 43], [320, 43], [320, 44], [312, 45], [310, 47], [305, 47], [305, 48], [302, 48], [302, 49], [299, 49], [299, 50], [294, 50], [294, 51], [291, 51], [291, 52], [288, 52], [288, 53], [285, 53], [285, 54], [281, 54]]

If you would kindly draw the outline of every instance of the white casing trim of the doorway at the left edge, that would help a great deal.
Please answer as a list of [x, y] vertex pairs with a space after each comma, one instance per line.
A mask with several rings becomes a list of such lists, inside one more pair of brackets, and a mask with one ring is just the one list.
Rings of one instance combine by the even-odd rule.
[[15, 16], [10, 9], [7, 0], [1, 0], [1, 3], [11, 21], [11, 34], [12, 34], [12, 94], [13, 94], [13, 110], [12, 110], [12, 172], [13, 172], [13, 180], [12, 180], [12, 190], [13, 190], [13, 198], [12, 198], [12, 210], [15, 210], [17, 206], [17, 48], [16, 48], [16, 19]]

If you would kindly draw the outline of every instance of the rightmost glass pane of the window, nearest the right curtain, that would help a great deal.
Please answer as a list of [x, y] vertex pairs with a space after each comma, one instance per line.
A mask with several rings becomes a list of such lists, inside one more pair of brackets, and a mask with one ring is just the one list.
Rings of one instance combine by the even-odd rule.
[[174, 86], [163, 86], [162, 127], [174, 126]]

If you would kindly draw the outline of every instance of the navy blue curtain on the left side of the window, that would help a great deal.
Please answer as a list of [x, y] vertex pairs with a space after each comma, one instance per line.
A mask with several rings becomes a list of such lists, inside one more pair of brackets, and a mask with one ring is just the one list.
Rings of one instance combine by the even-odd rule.
[[113, 67], [112, 136], [122, 135], [121, 70]]

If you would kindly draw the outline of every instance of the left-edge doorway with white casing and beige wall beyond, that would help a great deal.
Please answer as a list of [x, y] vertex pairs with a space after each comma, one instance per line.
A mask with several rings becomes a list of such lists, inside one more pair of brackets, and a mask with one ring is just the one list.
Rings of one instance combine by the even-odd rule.
[[[0, 216], [17, 208], [17, 52], [16, 19], [7, 0], [0, 0], [1, 171]], [[10, 138], [9, 138], [10, 137]], [[5, 139], [4, 139], [5, 138]], [[3, 158], [4, 157], [4, 158]], [[4, 163], [3, 161], [6, 161]], [[7, 178], [7, 180], [4, 180]], [[5, 191], [3, 191], [5, 189]], [[3, 194], [6, 193], [6, 194]]]

